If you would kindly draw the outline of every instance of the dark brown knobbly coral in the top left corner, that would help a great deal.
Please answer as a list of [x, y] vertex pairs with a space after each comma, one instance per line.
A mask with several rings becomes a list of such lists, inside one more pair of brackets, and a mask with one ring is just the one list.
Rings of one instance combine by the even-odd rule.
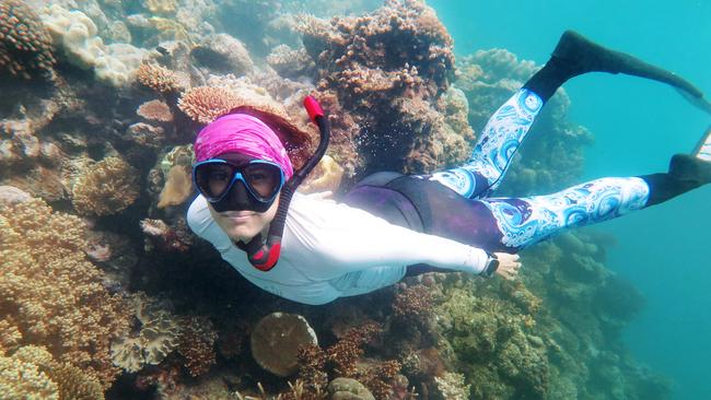
[[54, 63], [51, 38], [39, 16], [24, 1], [0, 3], [0, 71], [24, 79], [51, 77]]

